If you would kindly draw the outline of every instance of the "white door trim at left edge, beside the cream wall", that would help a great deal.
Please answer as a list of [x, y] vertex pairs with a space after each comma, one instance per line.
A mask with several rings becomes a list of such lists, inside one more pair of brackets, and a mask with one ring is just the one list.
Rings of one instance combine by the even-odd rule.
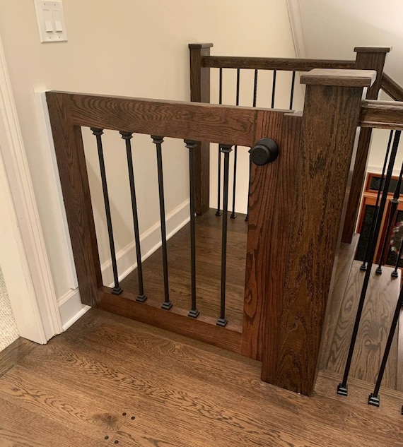
[[0, 266], [19, 334], [45, 343], [62, 332], [62, 321], [1, 36], [0, 155]]

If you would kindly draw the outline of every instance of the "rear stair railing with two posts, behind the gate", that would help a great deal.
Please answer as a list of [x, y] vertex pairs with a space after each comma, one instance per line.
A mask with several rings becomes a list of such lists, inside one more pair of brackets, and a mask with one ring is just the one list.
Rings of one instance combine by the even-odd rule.
[[[356, 47], [355, 60], [326, 60], [326, 59], [292, 59], [292, 58], [271, 58], [271, 57], [243, 57], [243, 56], [211, 56], [210, 49], [213, 47], [211, 43], [189, 44], [190, 51], [190, 97], [194, 102], [210, 102], [211, 90], [211, 69], [219, 70], [218, 98], [222, 102], [223, 97], [223, 70], [236, 70], [237, 82], [236, 91], [233, 94], [234, 104], [239, 105], [239, 89], [240, 89], [240, 73], [244, 70], [254, 71], [253, 90], [251, 92], [251, 102], [249, 106], [256, 107], [258, 95], [258, 74], [259, 71], [272, 72], [271, 85], [271, 107], [276, 105], [276, 83], [280, 72], [291, 72], [291, 85], [289, 97], [289, 109], [293, 108], [293, 98], [295, 89], [296, 73], [310, 71], [313, 68], [337, 68], [337, 69], [359, 69], [359, 70], [375, 70], [377, 77], [373, 85], [368, 88], [366, 93], [367, 99], [378, 99], [378, 93], [383, 81], [382, 74], [385, 66], [389, 47]], [[245, 105], [245, 104], [243, 104]], [[342, 242], [351, 243], [358, 216], [358, 207], [361, 201], [363, 191], [363, 183], [366, 177], [366, 166], [368, 161], [368, 152], [370, 148], [370, 138], [372, 130], [363, 129], [360, 133], [356, 161], [354, 164], [354, 173], [351, 180], [351, 192], [346, 207], [346, 217], [344, 221], [343, 232], [341, 236]], [[210, 161], [209, 150], [204, 150], [209, 146], [206, 143], [199, 143], [196, 151], [196, 178], [197, 183], [197, 203], [196, 210], [202, 215], [209, 209], [209, 177], [210, 177]], [[202, 149], [203, 148], [203, 149]], [[236, 154], [236, 149], [235, 149]], [[235, 194], [237, 181], [237, 163], [236, 155], [233, 167], [233, 208], [231, 217], [235, 218]], [[221, 154], [218, 151], [218, 205], [217, 215], [221, 213]], [[249, 208], [249, 207], [247, 207]], [[248, 212], [246, 210], [247, 216]], [[246, 217], [247, 220], [247, 217]]]

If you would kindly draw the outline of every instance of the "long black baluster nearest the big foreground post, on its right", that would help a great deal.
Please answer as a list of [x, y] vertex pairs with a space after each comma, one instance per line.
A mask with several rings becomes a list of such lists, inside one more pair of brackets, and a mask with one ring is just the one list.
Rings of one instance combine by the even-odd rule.
[[370, 253], [369, 253], [370, 256], [368, 258], [368, 266], [366, 269], [366, 275], [363, 280], [363, 288], [361, 290], [360, 300], [358, 302], [356, 321], [354, 322], [353, 334], [351, 335], [349, 354], [347, 356], [346, 366], [344, 369], [343, 381], [341, 383], [339, 383], [339, 386], [337, 387], [337, 394], [339, 394], [339, 395], [347, 395], [347, 393], [348, 393], [347, 380], [349, 379], [351, 360], [353, 359], [354, 347], [356, 345], [358, 327], [360, 325], [361, 314], [363, 311], [363, 305], [364, 305], [364, 302], [366, 299], [366, 292], [367, 292], [368, 283], [370, 280], [370, 272], [371, 272], [372, 266], [373, 266], [373, 256], [374, 256], [375, 250], [376, 250], [378, 234], [379, 234], [380, 225], [382, 222], [382, 215], [385, 211], [385, 205], [386, 205], [386, 201], [387, 201], [387, 193], [389, 192], [390, 179], [392, 177], [392, 172], [393, 172], [393, 165], [395, 165], [397, 148], [399, 147], [400, 133], [401, 133], [401, 131], [395, 132], [395, 139], [393, 141], [392, 151], [390, 153], [389, 165], [387, 166], [387, 174], [386, 174], [386, 178], [385, 178], [385, 185], [383, 187], [382, 199], [380, 201], [379, 213], [376, 217], [374, 232], [373, 232], [373, 234], [370, 235], [370, 240], [371, 240]]

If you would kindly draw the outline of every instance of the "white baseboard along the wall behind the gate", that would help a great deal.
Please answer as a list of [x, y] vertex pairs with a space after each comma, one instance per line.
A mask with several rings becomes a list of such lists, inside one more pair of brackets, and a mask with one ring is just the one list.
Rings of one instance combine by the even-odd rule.
[[[166, 216], [167, 239], [173, 237], [189, 222], [189, 199], [182, 202], [177, 208], [172, 210]], [[141, 260], [145, 261], [161, 246], [160, 240], [160, 222], [157, 222], [146, 232], [141, 234]], [[131, 242], [124, 249], [116, 254], [117, 269], [119, 272], [119, 280], [126, 278], [129, 273], [137, 267], [136, 262], [136, 246]], [[101, 266], [103, 283], [113, 285], [112, 263], [107, 261]], [[62, 319], [63, 330], [68, 329], [78, 318], [81, 318], [90, 306], [81, 303], [80, 292], [77, 289], [71, 289], [57, 300], [59, 305], [60, 317]]]

